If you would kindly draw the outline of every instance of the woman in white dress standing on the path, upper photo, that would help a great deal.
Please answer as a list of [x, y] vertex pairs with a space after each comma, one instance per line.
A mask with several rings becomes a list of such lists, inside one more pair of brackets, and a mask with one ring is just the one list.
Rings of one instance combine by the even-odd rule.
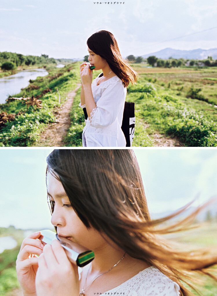
[[[136, 82], [136, 72], [121, 57], [112, 33], [102, 30], [87, 40], [89, 63], [80, 65], [81, 103], [87, 122], [82, 134], [83, 147], [125, 147], [121, 130], [126, 87]], [[92, 82], [93, 70], [102, 69]]]

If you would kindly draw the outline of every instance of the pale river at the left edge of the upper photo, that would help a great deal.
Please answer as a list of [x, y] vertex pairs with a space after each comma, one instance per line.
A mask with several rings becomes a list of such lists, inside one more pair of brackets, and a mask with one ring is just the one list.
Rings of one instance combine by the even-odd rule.
[[0, 78], [0, 104], [5, 103], [8, 96], [19, 94], [22, 88], [29, 85], [30, 79], [35, 80], [38, 76], [46, 75], [48, 72], [45, 69], [32, 69]]

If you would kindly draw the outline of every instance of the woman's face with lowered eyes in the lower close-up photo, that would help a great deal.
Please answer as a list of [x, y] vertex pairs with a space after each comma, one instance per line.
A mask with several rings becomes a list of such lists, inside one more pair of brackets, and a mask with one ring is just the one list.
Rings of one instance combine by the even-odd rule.
[[61, 181], [51, 173], [48, 173], [47, 190], [49, 199], [54, 202], [51, 223], [57, 227], [58, 235], [91, 250], [103, 247], [105, 240], [95, 229], [87, 229], [71, 206]]

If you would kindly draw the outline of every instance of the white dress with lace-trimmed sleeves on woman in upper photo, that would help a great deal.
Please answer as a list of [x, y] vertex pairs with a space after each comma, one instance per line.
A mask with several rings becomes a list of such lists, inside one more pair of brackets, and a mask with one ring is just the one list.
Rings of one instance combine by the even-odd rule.
[[[100, 74], [99, 74], [100, 75]], [[121, 129], [127, 89], [118, 76], [100, 83], [92, 81], [95, 107], [82, 133], [83, 147], [125, 147], [126, 140]], [[81, 106], [84, 108], [85, 105]]]

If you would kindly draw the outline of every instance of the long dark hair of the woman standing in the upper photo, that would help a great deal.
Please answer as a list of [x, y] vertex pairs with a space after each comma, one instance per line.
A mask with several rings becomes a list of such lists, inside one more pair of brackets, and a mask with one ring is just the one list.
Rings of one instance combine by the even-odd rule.
[[118, 43], [114, 35], [108, 31], [101, 30], [87, 39], [87, 46], [95, 54], [105, 59], [111, 70], [123, 81], [124, 86], [128, 86], [137, 81], [137, 73], [121, 57]]

